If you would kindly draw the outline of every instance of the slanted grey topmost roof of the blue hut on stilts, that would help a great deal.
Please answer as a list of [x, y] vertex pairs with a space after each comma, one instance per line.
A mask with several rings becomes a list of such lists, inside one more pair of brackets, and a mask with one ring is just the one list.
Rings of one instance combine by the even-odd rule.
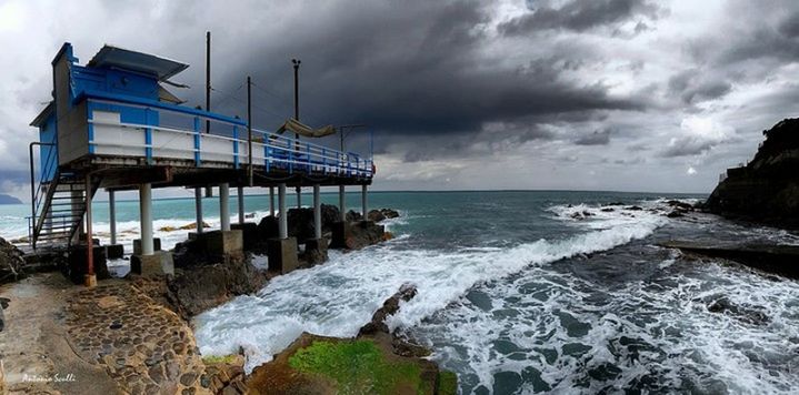
[[91, 58], [87, 64], [94, 68], [119, 68], [154, 75], [163, 81], [183, 70], [189, 65], [167, 58], [149, 53], [137, 52], [123, 48], [106, 44]]

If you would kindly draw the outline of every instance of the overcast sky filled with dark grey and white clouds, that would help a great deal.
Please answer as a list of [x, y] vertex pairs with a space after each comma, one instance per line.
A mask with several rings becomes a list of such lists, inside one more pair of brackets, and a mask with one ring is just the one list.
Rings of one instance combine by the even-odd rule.
[[374, 190], [709, 193], [799, 110], [793, 0], [0, 0], [0, 193], [30, 193], [64, 41], [187, 62], [173, 93], [198, 105], [206, 31], [214, 111], [243, 118], [251, 75], [276, 129], [301, 59], [300, 118], [366, 124], [347, 145], [373, 135]]

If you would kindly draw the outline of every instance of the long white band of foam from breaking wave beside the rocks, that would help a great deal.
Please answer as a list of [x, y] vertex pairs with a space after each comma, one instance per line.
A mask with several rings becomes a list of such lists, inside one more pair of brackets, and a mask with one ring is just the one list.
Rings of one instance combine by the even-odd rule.
[[[411, 327], [458, 301], [476, 284], [501, 278], [576, 254], [612, 249], [651, 234], [665, 220], [640, 213], [636, 221], [617, 215], [602, 230], [560, 241], [539, 240], [511, 249], [455, 252], [408, 249], [402, 240], [359, 252], [331, 253], [330, 262], [278, 276], [258, 295], [241, 296], [196, 318], [203, 355], [248, 354], [247, 368], [269, 361], [303, 331], [354, 336], [382, 302], [402, 284], [419, 294], [388, 321]], [[601, 220], [591, 220], [602, 222]]]

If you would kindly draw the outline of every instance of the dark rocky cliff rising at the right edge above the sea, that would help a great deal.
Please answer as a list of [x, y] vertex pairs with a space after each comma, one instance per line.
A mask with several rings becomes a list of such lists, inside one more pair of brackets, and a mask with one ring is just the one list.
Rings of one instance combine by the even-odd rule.
[[728, 169], [705, 207], [728, 217], [799, 227], [799, 119], [782, 120], [763, 135], [751, 162]]

